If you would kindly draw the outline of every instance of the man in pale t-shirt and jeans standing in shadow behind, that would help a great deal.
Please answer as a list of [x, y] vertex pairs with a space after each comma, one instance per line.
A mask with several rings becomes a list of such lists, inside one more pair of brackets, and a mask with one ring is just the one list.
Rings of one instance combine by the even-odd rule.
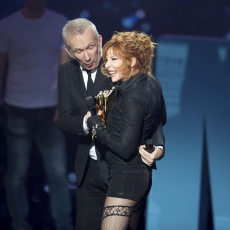
[[[56, 229], [72, 229], [64, 135], [57, 127], [57, 67], [67, 60], [61, 30], [66, 17], [45, 8], [45, 0], [25, 6], [0, 23], [0, 79], [6, 64], [6, 195], [14, 230], [31, 229], [26, 178], [35, 143], [50, 186]], [[66, 54], [66, 55], [65, 55]], [[69, 59], [69, 57], [68, 57]]]

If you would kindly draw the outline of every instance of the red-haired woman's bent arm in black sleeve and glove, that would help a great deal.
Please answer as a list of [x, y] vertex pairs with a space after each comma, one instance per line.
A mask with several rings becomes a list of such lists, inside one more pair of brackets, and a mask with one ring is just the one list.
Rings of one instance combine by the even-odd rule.
[[127, 95], [122, 100], [119, 136], [113, 135], [107, 128], [103, 128], [102, 125], [96, 125], [101, 122], [99, 115], [90, 117], [87, 123], [89, 128], [96, 126], [94, 127], [96, 136], [102, 144], [109, 147], [124, 160], [127, 160], [135, 152], [145, 108], [137, 98], [130, 95]]

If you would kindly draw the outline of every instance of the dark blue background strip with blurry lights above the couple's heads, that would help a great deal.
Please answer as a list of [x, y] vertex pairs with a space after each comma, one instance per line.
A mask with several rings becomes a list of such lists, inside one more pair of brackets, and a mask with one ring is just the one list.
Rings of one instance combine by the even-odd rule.
[[[0, 18], [23, 3], [1, 0]], [[230, 32], [229, 0], [47, 0], [47, 6], [69, 19], [87, 17], [97, 25], [104, 41], [114, 31], [127, 29], [145, 30], [156, 38], [163, 34], [224, 38]]]

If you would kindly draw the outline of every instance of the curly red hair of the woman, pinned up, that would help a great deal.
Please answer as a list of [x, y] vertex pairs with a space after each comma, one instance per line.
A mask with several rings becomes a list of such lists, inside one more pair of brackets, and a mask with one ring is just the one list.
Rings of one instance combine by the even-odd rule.
[[[113, 54], [120, 58], [123, 63], [119, 70], [128, 78], [141, 72], [152, 75], [152, 65], [154, 50], [157, 43], [151, 40], [151, 37], [143, 32], [115, 32], [112, 38], [104, 45], [102, 58], [106, 63], [108, 50], [112, 48]], [[131, 69], [131, 60], [136, 58], [136, 64]], [[102, 73], [109, 76], [105, 65], [102, 65]]]

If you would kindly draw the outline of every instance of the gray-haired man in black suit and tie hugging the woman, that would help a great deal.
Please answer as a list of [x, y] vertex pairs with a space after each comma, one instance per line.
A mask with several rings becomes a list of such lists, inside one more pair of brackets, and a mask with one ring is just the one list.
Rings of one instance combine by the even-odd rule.
[[[92, 22], [82, 18], [69, 21], [62, 34], [65, 49], [73, 60], [59, 68], [58, 125], [67, 135], [79, 135], [75, 162], [78, 184], [76, 229], [98, 230], [107, 191], [108, 168], [104, 160], [105, 147], [97, 139], [92, 140], [85, 122], [89, 110], [85, 98], [111, 89], [111, 80], [100, 70], [102, 36]], [[93, 86], [89, 84], [90, 81]], [[87, 92], [89, 87], [92, 87], [91, 92]], [[161, 126], [155, 139], [159, 140], [155, 144], [164, 146]], [[163, 151], [158, 148], [152, 153], [155, 160], [161, 158], [162, 154]], [[153, 163], [148, 155], [144, 159], [149, 164]]]

